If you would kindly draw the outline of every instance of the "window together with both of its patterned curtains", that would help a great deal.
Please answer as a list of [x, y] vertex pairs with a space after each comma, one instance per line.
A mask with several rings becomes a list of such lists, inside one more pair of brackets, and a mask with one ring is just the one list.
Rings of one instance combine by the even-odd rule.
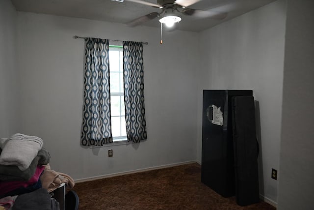
[[142, 43], [109, 47], [107, 39], [87, 37], [84, 45], [81, 145], [146, 140]]

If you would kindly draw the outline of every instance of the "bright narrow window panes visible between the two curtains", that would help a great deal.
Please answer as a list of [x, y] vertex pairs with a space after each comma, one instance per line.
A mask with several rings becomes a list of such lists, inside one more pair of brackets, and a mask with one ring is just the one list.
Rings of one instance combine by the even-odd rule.
[[126, 141], [126, 119], [123, 90], [123, 48], [109, 45], [110, 108], [113, 142]]

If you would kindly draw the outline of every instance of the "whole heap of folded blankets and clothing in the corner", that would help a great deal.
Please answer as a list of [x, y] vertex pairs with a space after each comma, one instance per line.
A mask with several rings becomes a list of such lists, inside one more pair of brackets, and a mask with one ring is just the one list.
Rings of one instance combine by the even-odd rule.
[[51, 170], [43, 145], [41, 138], [20, 133], [0, 139], [0, 210], [27, 210], [27, 205], [31, 210], [58, 210], [50, 193], [63, 183], [74, 187], [70, 176]]

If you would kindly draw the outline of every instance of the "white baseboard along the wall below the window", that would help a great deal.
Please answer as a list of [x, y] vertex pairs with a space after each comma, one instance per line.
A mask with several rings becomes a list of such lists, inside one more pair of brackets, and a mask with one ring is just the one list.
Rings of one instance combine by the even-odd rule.
[[180, 166], [180, 165], [191, 164], [191, 163], [196, 163], [196, 162], [197, 162], [196, 160], [193, 160], [193, 161], [172, 163], [172, 164], [161, 165], [161, 166], [154, 166], [154, 167], [149, 167], [149, 168], [135, 169], [135, 170], [131, 170], [131, 171], [118, 172], [118, 173], [113, 173], [113, 174], [106, 174], [106, 175], [101, 175], [101, 176], [96, 176], [96, 177], [78, 179], [78, 180], [75, 180], [75, 183], [80, 183], [80, 182], [84, 182], [84, 181], [92, 181], [92, 180], [100, 180], [100, 179], [109, 178], [109, 177], [116, 177], [116, 176], [121, 176], [121, 175], [126, 175], [126, 174], [134, 174], [134, 173], [139, 173], [139, 172], [152, 171], [152, 170], [156, 170], [156, 169], [170, 168], [170, 167], [174, 167], [174, 166]]

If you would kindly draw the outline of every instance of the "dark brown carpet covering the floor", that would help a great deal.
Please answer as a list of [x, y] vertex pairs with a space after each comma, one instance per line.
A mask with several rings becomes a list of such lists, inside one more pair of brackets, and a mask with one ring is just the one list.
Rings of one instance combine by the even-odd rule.
[[73, 190], [79, 210], [275, 210], [220, 196], [201, 182], [197, 163], [76, 183]]

